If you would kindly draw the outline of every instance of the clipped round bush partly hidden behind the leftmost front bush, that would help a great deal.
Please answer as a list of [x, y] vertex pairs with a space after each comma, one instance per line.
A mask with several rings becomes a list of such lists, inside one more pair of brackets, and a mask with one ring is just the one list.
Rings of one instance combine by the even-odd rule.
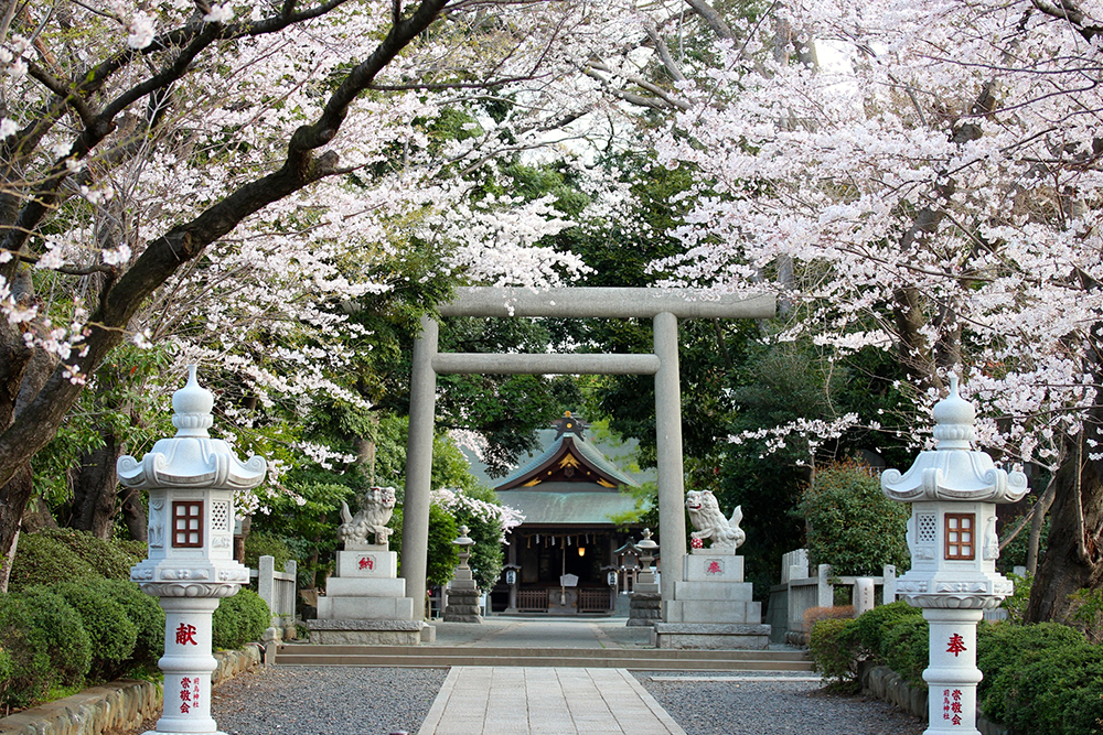
[[138, 628], [126, 608], [89, 584], [63, 582], [50, 591], [64, 597], [81, 616], [92, 641], [92, 675], [110, 680], [125, 672], [138, 641]]

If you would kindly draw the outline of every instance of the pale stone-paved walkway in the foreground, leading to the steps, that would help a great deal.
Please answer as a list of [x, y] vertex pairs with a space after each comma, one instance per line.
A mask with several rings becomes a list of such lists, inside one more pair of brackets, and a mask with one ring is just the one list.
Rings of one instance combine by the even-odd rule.
[[418, 735], [686, 735], [624, 669], [453, 667]]

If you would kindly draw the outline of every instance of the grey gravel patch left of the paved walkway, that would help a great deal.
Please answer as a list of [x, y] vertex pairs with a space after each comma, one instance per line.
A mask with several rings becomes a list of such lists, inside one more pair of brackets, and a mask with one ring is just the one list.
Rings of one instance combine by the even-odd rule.
[[416, 733], [448, 669], [269, 667], [217, 687], [211, 715], [227, 735]]

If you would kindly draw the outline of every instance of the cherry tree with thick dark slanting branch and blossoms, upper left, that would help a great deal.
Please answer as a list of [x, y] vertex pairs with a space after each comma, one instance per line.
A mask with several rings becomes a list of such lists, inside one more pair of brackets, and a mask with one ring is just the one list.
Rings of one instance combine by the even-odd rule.
[[577, 274], [538, 247], [567, 225], [547, 201], [482, 184], [601, 114], [578, 60], [639, 37], [621, 4], [0, 6], [0, 550], [125, 341], [260, 404], [363, 403], [336, 378], [371, 336], [350, 315], [396, 279]]

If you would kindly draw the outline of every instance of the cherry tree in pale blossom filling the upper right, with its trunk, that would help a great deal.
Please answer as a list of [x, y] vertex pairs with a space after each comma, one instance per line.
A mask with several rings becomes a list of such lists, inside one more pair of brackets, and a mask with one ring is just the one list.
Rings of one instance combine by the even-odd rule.
[[[1054, 473], [1030, 617], [1063, 617], [1103, 582], [1103, 10], [825, 0], [729, 23], [656, 141], [697, 183], [685, 251], [653, 267], [775, 289], [774, 338], [889, 350], [920, 404], [963, 374], [981, 442]], [[783, 53], [779, 26], [801, 30]]]

